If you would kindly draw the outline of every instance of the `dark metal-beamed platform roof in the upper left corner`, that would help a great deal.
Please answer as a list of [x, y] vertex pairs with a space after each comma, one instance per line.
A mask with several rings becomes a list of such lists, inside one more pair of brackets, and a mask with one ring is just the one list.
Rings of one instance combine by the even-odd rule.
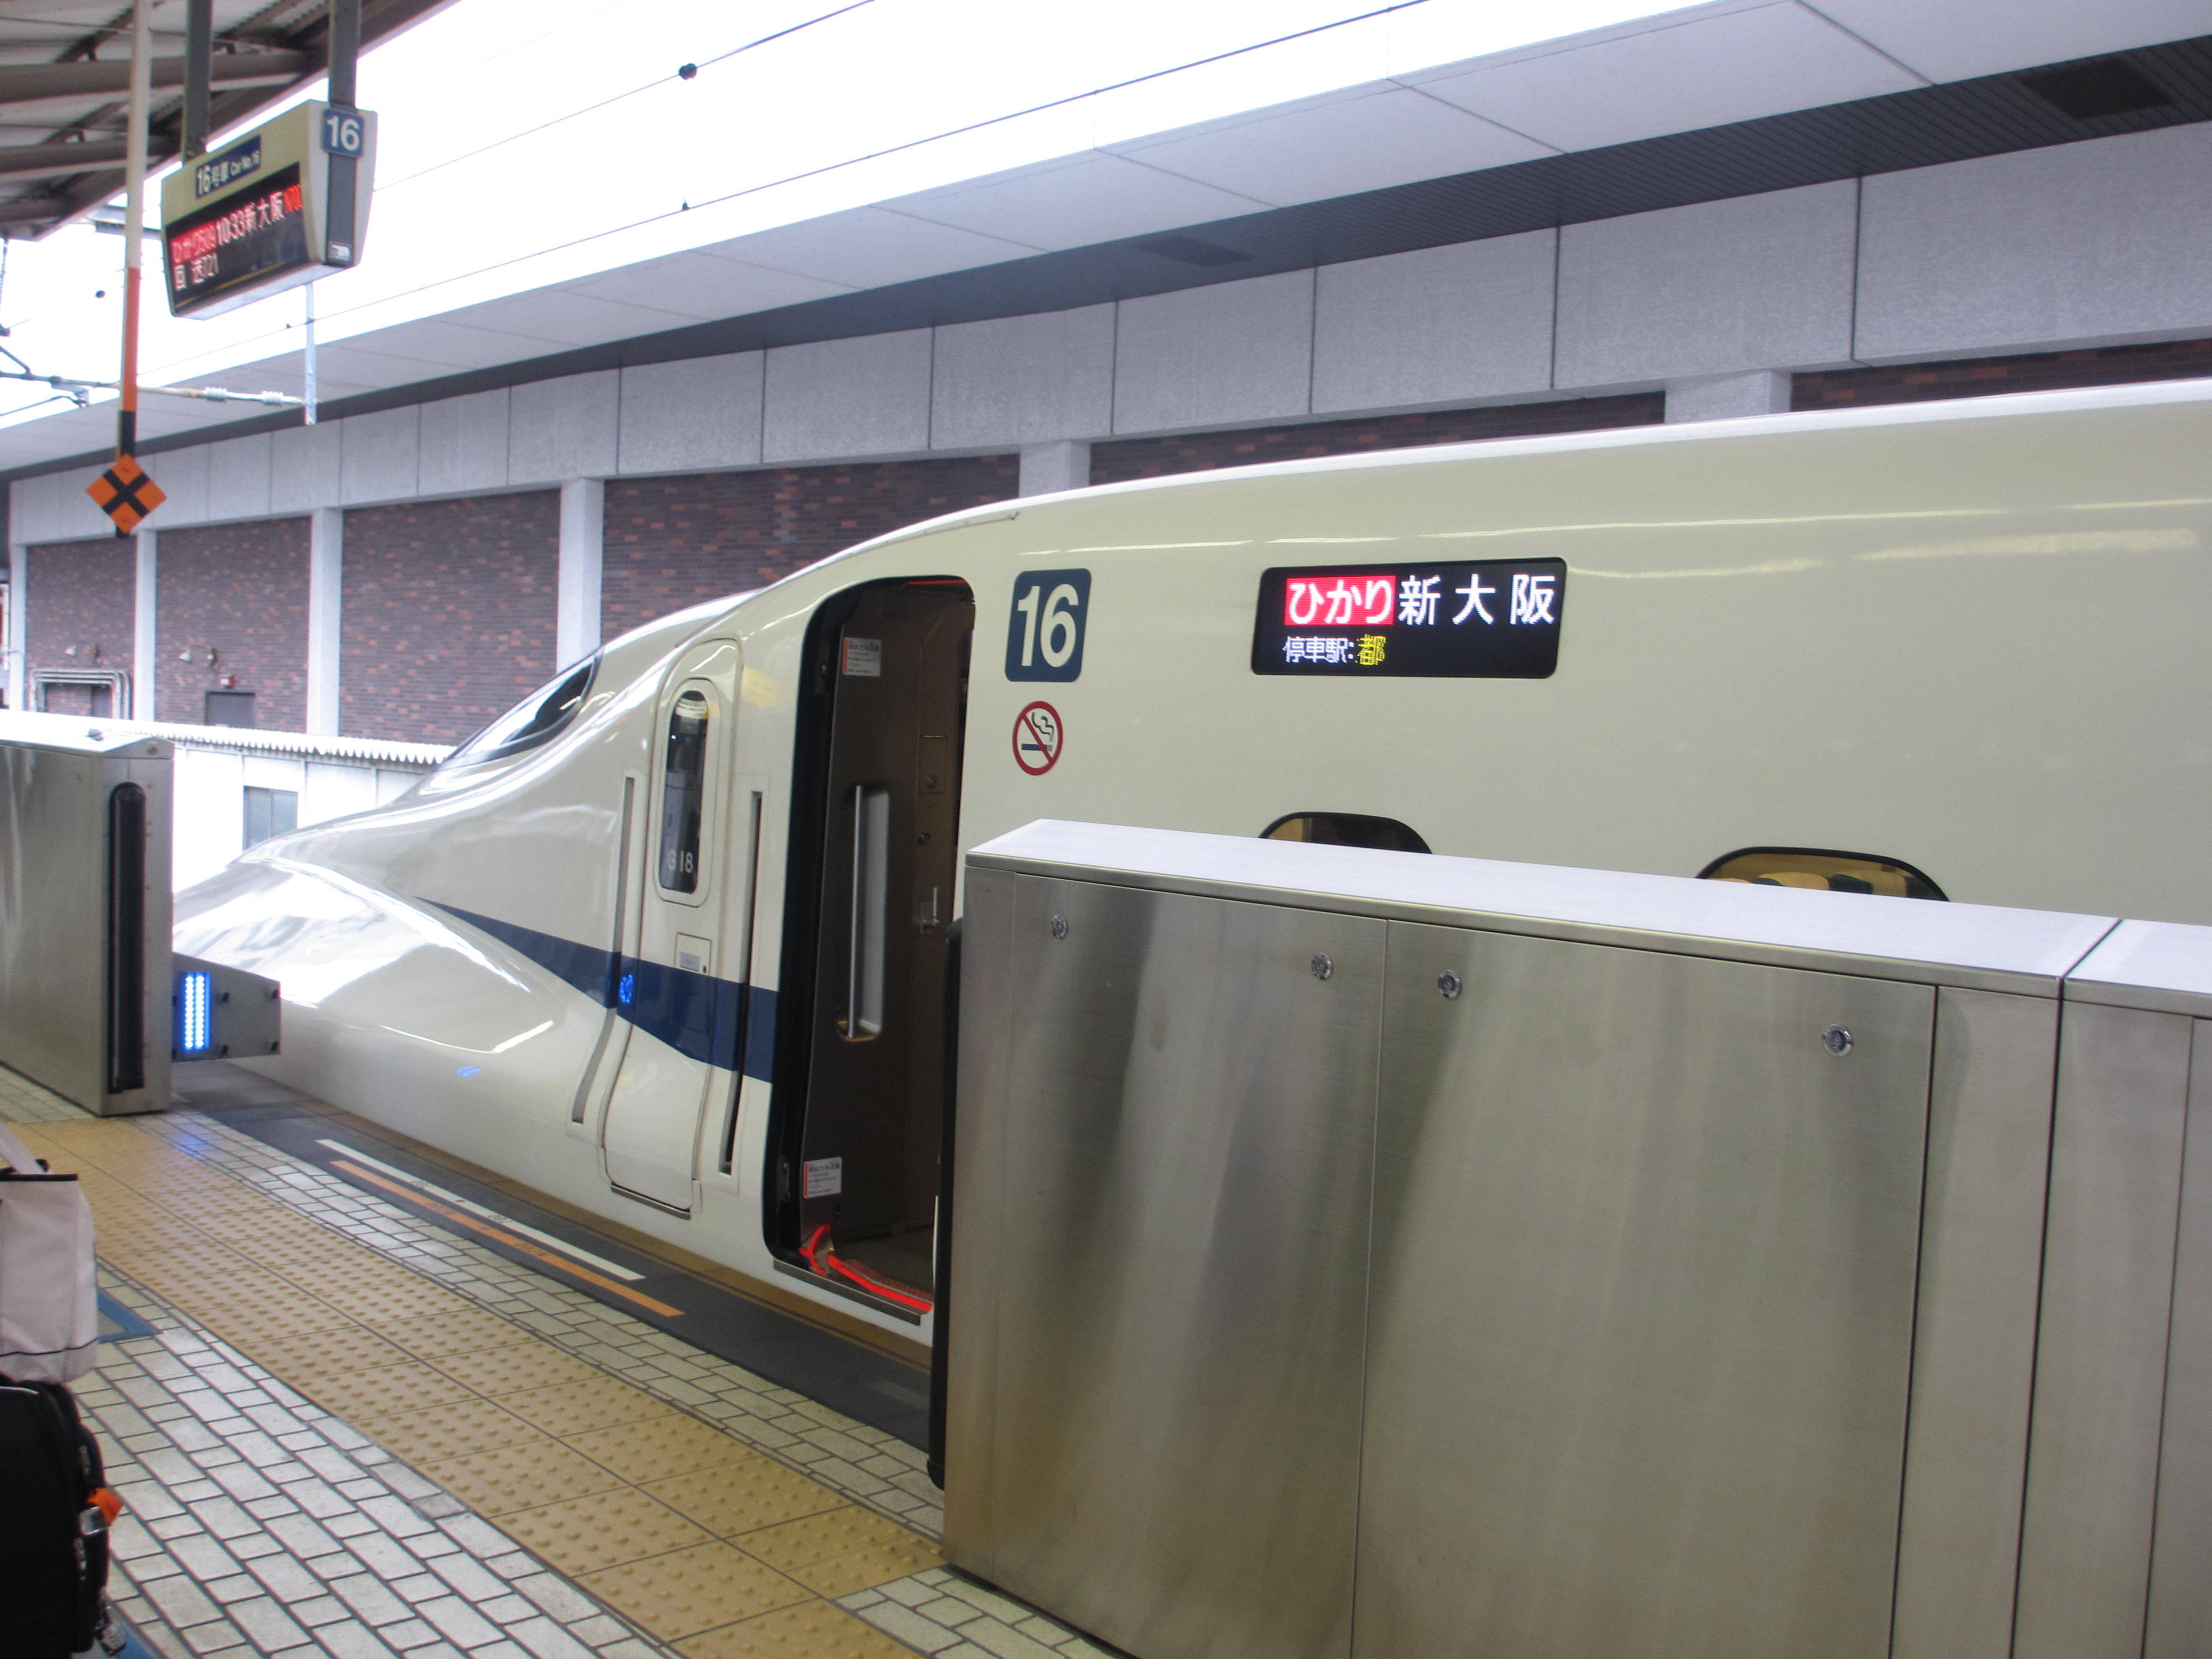
[[[363, 0], [361, 46], [449, 0]], [[170, 29], [184, 7], [166, 7]], [[323, 75], [327, 0], [215, 0], [210, 131]], [[153, 35], [155, 166], [181, 148], [184, 35]], [[0, 0], [0, 232], [42, 237], [124, 188], [128, 0]]]

